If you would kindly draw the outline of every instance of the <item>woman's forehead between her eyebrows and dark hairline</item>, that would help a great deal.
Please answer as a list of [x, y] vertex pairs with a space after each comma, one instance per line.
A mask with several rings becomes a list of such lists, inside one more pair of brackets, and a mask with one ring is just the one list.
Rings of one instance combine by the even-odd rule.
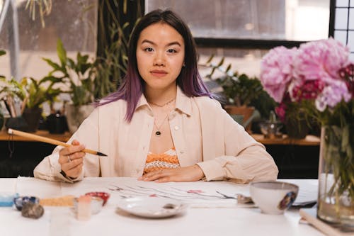
[[154, 23], [144, 28], [139, 35], [138, 43], [142, 40], [149, 40], [154, 43], [171, 43], [177, 41], [181, 45], [184, 44], [182, 35], [167, 23]]

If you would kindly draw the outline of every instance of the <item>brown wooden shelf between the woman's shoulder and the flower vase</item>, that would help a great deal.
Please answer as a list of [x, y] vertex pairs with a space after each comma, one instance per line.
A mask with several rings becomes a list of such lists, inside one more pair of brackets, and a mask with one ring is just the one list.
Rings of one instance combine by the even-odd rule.
[[304, 139], [293, 139], [282, 135], [282, 138], [265, 138], [261, 134], [251, 135], [256, 141], [263, 143], [263, 145], [301, 145], [301, 146], [317, 146], [320, 139], [314, 135], [307, 135]]

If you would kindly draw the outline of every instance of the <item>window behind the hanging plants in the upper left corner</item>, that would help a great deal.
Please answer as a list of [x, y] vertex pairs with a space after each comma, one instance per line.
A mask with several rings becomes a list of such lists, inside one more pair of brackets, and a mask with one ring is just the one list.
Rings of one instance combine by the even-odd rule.
[[[94, 56], [97, 1], [52, 0], [52, 11], [45, 16], [45, 27], [42, 27], [38, 6], [35, 21], [32, 21], [29, 9], [25, 9], [27, 0], [13, 1], [16, 3], [14, 6], [11, 1], [0, 0], [0, 19], [4, 18], [2, 28], [0, 20], [0, 49], [6, 50], [6, 56], [0, 57], [0, 74], [9, 78], [11, 67], [17, 65], [18, 79], [25, 76], [35, 79], [44, 77], [50, 72], [50, 67], [42, 57], [58, 61], [56, 52], [58, 38], [62, 40], [70, 57], [76, 57], [77, 51]], [[16, 52], [16, 26], [18, 52]]]

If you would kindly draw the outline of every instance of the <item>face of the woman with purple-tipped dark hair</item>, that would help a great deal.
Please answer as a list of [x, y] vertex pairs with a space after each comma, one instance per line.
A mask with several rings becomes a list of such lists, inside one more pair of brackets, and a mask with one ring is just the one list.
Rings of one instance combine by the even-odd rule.
[[184, 40], [166, 23], [142, 30], [137, 40], [137, 69], [146, 89], [168, 90], [176, 86], [184, 62]]

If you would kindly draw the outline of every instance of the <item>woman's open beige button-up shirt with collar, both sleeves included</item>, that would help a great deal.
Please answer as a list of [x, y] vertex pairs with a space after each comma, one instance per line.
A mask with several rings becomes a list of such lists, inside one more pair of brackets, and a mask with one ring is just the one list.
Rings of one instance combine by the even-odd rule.
[[[144, 96], [130, 123], [125, 121], [126, 102], [96, 108], [72, 135], [86, 148], [108, 154], [86, 154], [79, 181], [89, 176], [142, 176], [149, 152], [154, 114]], [[173, 143], [181, 167], [198, 164], [207, 181], [232, 179], [237, 183], [275, 180], [278, 168], [265, 147], [256, 142], [220, 106], [208, 97], [188, 97], [177, 89], [176, 109], [169, 114]], [[34, 176], [50, 181], [72, 180], [60, 174], [59, 150], [34, 169]]]

